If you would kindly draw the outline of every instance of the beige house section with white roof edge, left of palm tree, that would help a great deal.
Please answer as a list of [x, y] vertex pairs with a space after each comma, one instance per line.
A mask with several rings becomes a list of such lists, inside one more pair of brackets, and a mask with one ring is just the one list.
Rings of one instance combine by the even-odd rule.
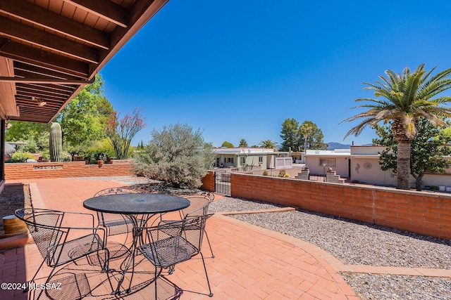
[[310, 174], [326, 174], [329, 168], [342, 178], [350, 178], [350, 149], [307, 150], [304, 154]]

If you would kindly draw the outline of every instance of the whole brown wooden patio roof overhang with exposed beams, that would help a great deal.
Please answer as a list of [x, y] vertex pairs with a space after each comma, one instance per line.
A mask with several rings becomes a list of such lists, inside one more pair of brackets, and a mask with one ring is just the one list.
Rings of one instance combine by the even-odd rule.
[[51, 122], [167, 1], [1, 0], [0, 117]]

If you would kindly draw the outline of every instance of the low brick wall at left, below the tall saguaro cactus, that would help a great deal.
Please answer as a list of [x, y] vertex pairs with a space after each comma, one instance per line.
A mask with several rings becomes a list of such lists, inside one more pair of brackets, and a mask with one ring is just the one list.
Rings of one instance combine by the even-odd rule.
[[85, 162], [26, 162], [5, 164], [5, 179], [38, 179], [61, 177], [130, 176], [130, 159], [113, 160], [112, 164]]

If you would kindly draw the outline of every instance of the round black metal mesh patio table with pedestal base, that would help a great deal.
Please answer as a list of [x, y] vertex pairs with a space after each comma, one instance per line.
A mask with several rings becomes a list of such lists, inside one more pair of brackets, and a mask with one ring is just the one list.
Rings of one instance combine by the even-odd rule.
[[[165, 194], [147, 194], [147, 193], [125, 193], [114, 195], [103, 195], [92, 197], [83, 202], [83, 207], [93, 211], [100, 211], [110, 214], [122, 214], [127, 216], [133, 224], [133, 227], [143, 227], [149, 219], [156, 214], [165, 214], [170, 211], [178, 211], [190, 206], [190, 200], [183, 197]], [[138, 221], [137, 216], [140, 216]], [[133, 236], [131, 259], [128, 259], [127, 266], [123, 270], [121, 280], [114, 293], [120, 294], [122, 282], [125, 274], [134, 263], [134, 252], [140, 237]], [[133, 273], [132, 273], [133, 278]], [[131, 284], [130, 279], [130, 284]], [[129, 288], [130, 289], [130, 288]]]

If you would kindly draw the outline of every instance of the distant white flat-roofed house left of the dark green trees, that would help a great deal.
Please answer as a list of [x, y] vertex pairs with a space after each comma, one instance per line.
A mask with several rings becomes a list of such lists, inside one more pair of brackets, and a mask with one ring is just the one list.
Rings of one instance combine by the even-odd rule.
[[284, 169], [292, 166], [289, 152], [272, 148], [215, 148], [214, 167], [237, 168], [238, 171]]

